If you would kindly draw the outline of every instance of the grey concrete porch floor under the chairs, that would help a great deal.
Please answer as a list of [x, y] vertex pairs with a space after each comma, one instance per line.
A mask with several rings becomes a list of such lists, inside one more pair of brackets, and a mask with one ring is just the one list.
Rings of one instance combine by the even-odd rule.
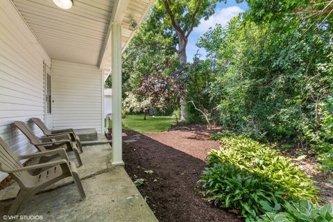
[[[42, 221], [157, 221], [125, 169], [110, 163], [110, 144], [83, 151], [78, 173], [87, 198], [80, 201], [72, 178], [66, 178], [33, 196], [19, 215], [40, 215]], [[72, 152], [69, 158], [75, 161]], [[0, 221], [18, 191], [15, 181], [0, 190]]]

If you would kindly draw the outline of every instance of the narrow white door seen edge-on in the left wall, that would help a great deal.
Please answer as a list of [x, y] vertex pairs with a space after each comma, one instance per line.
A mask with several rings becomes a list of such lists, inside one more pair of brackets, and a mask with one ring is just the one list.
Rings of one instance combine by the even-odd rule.
[[51, 91], [51, 83], [52, 83], [52, 73], [50, 67], [48, 67], [44, 63], [44, 85], [45, 85], [45, 102], [44, 102], [44, 122], [47, 128], [52, 128], [52, 91]]

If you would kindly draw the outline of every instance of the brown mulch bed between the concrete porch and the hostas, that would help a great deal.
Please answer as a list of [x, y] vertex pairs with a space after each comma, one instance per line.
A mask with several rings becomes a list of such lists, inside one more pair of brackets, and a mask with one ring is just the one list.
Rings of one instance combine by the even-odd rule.
[[[138, 189], [159, 221], [242, 221], [239, 214], [207, 203], [196, 189], [207, 152], [219, 148], [218, 142], [209, 140], [210, 133], [218, 130], [178, 127], [140, 135], [137, 142], [123, 144], [125, 169], [133, 181], [145, 179]], [[126, 139], [137, 135], [128, 130], [124, 133]], [[153, 173], [144, 172], [148, 170]]]

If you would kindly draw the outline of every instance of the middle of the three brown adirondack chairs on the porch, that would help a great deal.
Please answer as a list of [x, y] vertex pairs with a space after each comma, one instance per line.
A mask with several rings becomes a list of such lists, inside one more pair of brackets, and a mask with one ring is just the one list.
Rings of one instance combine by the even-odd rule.
[[[15, 121], [12, 123], [14, 126], [19, 128], [19, 130], [28, 137], [31, 144], [37, 148], [38, 151], [46, 151], [47, 149], [53, 148], [66, 148], [66, 151], [74, 151], [76, 160], [78, 160], [78, 167], [82, 166], [82, 160], [80, 154], [78, 153], [78, 148], [76, 144], [71, 142], [69, 135], [54, 135], [49, 137], [37, 137], [33, 130], [28, 127], [28, 125], [22, 121]], [[40, 163], [48, 162], [52, 157], [41, 157]]]

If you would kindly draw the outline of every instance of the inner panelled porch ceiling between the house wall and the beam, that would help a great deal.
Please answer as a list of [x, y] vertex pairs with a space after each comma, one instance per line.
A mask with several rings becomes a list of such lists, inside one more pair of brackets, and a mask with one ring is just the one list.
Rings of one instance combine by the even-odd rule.
[[52, 59], [97, 65], [117, 0], [74, 0], [69, 10], [52, 0], [12, 0]]

